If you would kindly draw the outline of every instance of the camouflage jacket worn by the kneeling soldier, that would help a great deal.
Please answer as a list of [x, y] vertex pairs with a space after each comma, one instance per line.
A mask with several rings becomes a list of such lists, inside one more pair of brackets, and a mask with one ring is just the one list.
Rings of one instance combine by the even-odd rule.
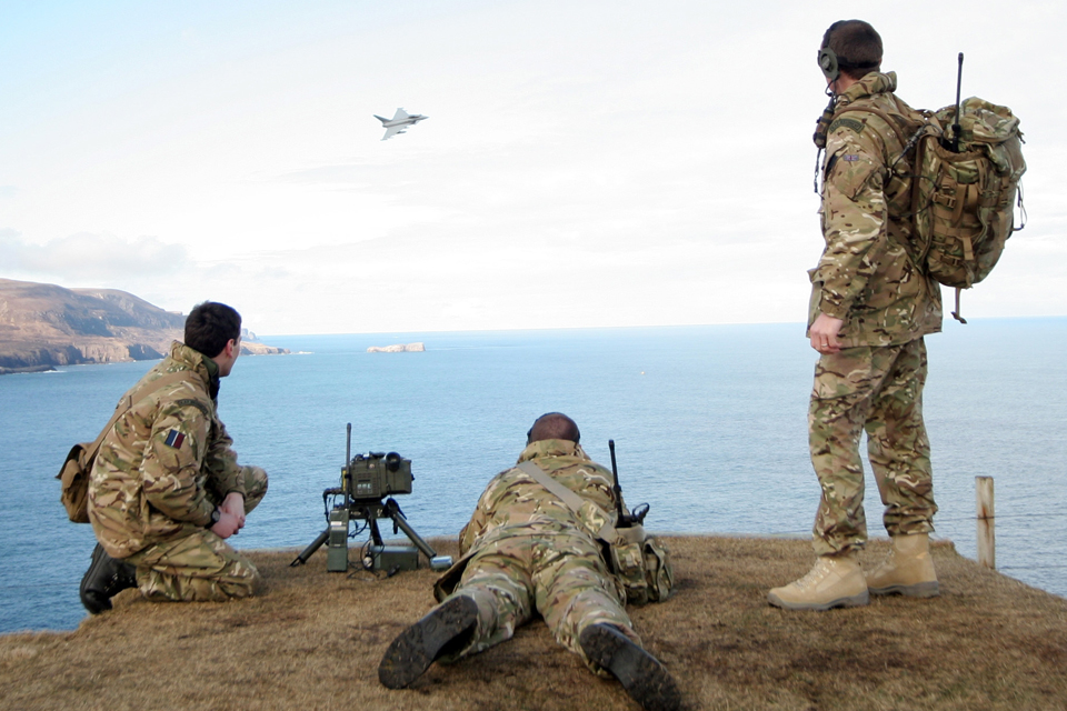
[[187, 371], [188, 379], [134, 402], [97, 454], [89, 520], [113, 558], [209, 524], [215, 509], [209, 491], [217, 501], [231, 491], [245, 494], [233, 441], [212, 398], [218, 392], [215, 361], [174, 341], [170, 356], [127, 394], [176, 371]]

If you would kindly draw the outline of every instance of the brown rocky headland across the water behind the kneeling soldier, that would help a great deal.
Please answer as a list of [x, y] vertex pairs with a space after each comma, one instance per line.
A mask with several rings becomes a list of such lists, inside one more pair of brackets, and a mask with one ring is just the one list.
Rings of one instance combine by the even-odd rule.
[[0, 373], [162, 358], [185, 323], [124, 291], [0, 279]]

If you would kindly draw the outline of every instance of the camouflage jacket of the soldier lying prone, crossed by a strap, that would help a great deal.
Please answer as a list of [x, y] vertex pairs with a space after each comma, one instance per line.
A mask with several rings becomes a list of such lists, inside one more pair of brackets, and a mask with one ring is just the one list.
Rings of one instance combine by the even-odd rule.
[[615, 479], [581, 447], [568, 440], [541, 440], [522, 450], [518, 463], [525, 461], [532, 461], [596, 507], [575, 513], [529, 474], [509, 469], [493, 477], [482, 492], [475, 513], [459, 533], [460, 554], [515, 535], [582, 531], [592, 538], [606, 522], [605, 517], [616, 523]]

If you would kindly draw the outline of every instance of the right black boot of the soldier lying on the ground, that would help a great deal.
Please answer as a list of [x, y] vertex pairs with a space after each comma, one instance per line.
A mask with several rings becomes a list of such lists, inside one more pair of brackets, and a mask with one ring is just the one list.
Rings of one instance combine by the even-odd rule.
[[610, 624], [590, 624], [578, 635], [581, 649], [619, 680], [626, 692], [648, 711], [676, 711], [681, 693], [655, 657]]

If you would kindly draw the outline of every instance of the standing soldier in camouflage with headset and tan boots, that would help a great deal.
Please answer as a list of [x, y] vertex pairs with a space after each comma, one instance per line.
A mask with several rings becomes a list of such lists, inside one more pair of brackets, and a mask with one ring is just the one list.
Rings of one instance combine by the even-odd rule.
[[[814, 529], [819, 558], [807, 575], [769, 594], [771, 604], [794, 610], [866, 604], [869, 593], [937, 594], [928, 548], [937, 507], [921, 403], [923, 337], [941, 330], [940, 288], [907, 250], [914, 153], [886, 122], [921, 116], [894, 94], [896, 74], [879, 71], [881, 54], [881, 38], [859, 20], [832, 24], [819, 51], [836, 117], [821, 137], [826, 249], [810, 272], [807, 333], [820, 353], [808, 411], [822, 488]], [[867, 541], [864, 430], [894, 540], [890, 557], [866, 579], [856, 555]]]

